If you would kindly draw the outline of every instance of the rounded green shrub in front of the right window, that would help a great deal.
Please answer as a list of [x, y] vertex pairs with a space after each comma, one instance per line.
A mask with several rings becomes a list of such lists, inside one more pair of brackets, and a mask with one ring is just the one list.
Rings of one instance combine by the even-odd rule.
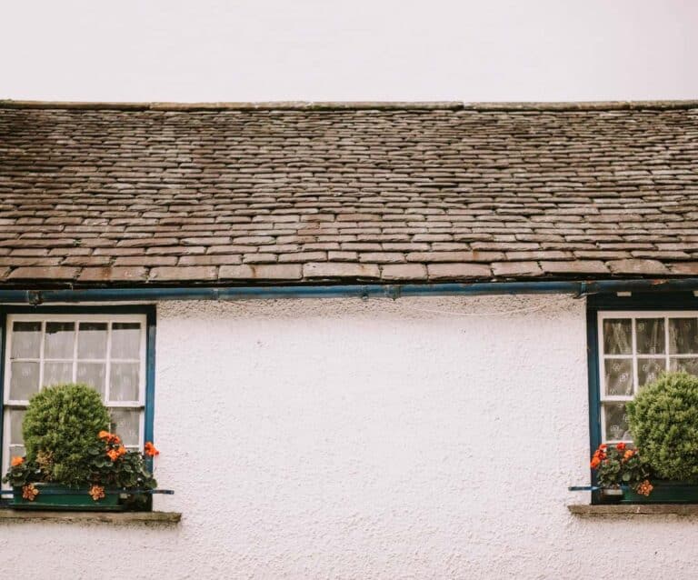
[[627, 408], [633, 443], [656, 475], [698, 482], [698, 377], [660, 375]]

